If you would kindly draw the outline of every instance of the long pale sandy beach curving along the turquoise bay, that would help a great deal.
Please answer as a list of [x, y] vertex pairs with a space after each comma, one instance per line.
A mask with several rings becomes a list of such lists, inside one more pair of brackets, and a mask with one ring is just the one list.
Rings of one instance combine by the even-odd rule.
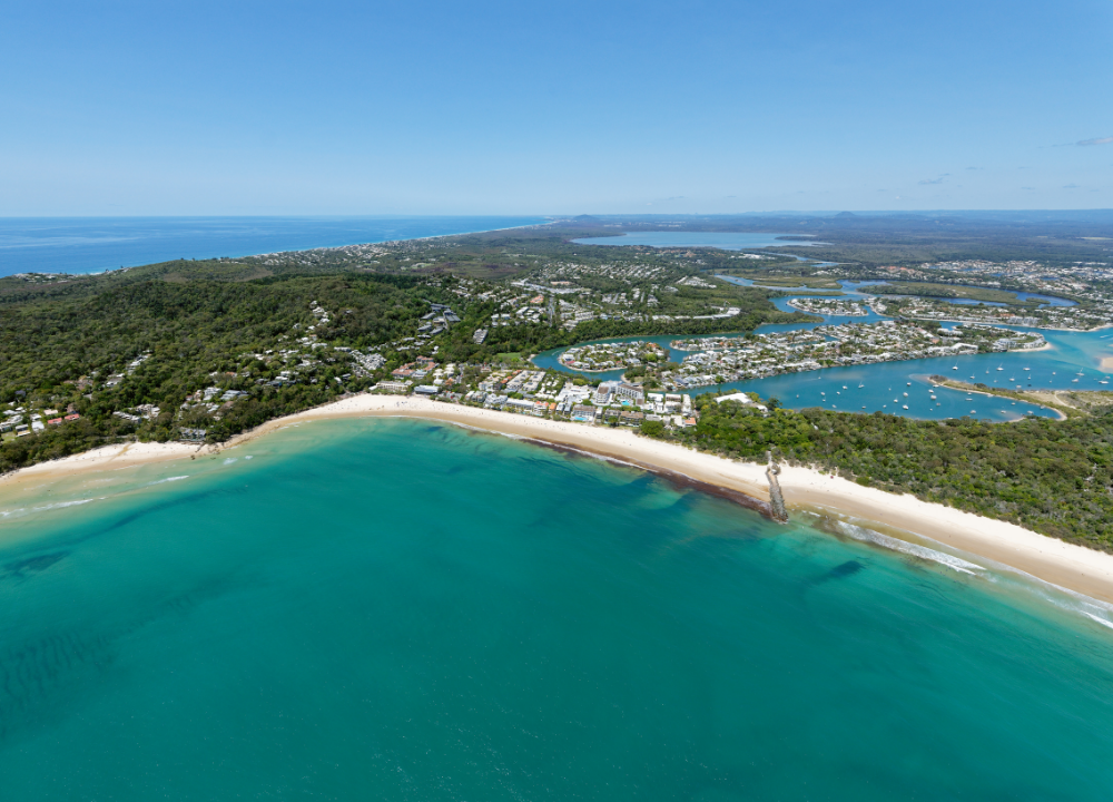
[[[693, 487], [768, 515], [769, 485], [764, 464], [735, 462], [676, 443], [640, 437], [630, 429], [589, 427], [424, 398], [368, 394], [353, 395], [268, 421], [221, 446], [105, 446], [0, 477], [0, 490], [87, 471], [215, 454], [299, 421], [344, 418], [432, 419], [509, 434], [540, 446], [598, 456], [648, 470], [681, 487]], [[785, 502], [790, 510], [820, 510], [836, 519], [877, 524], [894, 530], [887, 534], [909, 542], [915, 542], [909, 539], [909, 535], [920, 536], [1051, 585], [1113, 603], [1111, 554], [1040, 535], [1015, 524], [922, 501], [910, 495], [897, 496], [877, 488], [863, 487], [811, 468], [781, 466], [779, 480]]]

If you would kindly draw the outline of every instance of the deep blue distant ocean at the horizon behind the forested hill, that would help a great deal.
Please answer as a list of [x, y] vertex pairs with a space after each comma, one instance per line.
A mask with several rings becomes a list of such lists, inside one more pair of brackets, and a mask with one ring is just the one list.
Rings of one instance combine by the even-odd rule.
[[96, 273], [544, 223], [541, 217], [2, 217], [0, 276]]

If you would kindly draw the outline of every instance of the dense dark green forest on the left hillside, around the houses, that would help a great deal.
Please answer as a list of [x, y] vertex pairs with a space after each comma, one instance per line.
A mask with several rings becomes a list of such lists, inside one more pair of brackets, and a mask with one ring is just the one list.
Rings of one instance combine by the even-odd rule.
[[[0, 399], [76, 412], [79, 420], [0, 446], [0, 471], [75, 453], [121, 437], [168, 440], [181, 426], [203, 426], [211, 441], [266, 420], [362, 389], [348, 358], [331, 345], [363, 348], [413, 332], [429, 301], [459, 297], [415, 276], [272, 276], [246, 282], [111, 282], [102, 292], [51, 294], [0, 303]], [[284, 366], [255, 358], [293, 344], [318, 321], [316, 302], [332, 312], [316, 335], [331, 344], [315, 353], [312, 378], [273, 387]], [[141, 364], [129, 365], [140, 356]], [[121, 376], [116, 384], [112, 375]], [[347, 376], [347, 379], [345, 379]], [[339, 379], [341, 381], [337, 381]], [[245, 393], [214, 419], [179, 411], [204, 387]], [[115, 415], [141, 404], [152, 420]]]

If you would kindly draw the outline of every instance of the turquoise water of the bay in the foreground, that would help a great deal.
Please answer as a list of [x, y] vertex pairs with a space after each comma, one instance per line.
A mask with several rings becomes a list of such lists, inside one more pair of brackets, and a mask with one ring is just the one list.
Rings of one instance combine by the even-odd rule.
[[316, 422], [0, 516], [4, 800], [1113, 789], [1076, 599], [581, 456]]

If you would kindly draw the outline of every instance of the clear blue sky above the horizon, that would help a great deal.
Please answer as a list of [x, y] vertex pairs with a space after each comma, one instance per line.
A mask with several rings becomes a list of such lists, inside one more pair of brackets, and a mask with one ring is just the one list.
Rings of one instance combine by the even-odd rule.
[[0, 215], [1107, 208], [1111, 46], [1107, 0], [8, 3]]

